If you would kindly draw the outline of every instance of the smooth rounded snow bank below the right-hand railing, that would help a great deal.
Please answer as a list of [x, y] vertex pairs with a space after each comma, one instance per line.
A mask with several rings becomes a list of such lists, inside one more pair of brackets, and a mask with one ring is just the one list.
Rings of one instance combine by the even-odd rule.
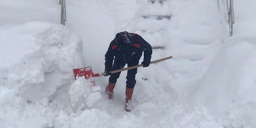
[[247, 41], [226, 43], [198, 81], [190, 101], [203, 104], [218, 115], [221, 112], [226, 127], [255, 126], [255, 49], [255, 43]]

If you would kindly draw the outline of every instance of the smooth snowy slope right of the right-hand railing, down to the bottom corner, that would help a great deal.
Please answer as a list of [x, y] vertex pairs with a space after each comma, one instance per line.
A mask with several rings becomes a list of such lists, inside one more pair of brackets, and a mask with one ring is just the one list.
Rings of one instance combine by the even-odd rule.
[[207, 106], [228, 128], [256, 126], [255, 5], [256, 1], [234, 0], [233, 35], [225, 40], [189, 98]]

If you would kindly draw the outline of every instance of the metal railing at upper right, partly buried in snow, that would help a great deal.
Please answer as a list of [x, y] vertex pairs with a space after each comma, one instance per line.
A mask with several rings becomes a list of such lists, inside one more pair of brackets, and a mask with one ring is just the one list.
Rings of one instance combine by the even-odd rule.
[[[229, 3], [228, 3], [228, 1], [229, 1]], [[229, 28], [230, 28], [230, 36], [232, 36], [233, 35], [233, 24], [235, 23], [233, 0], [227, 0], [227, 13], [228, 13], [228, 23], [229, 23]]]

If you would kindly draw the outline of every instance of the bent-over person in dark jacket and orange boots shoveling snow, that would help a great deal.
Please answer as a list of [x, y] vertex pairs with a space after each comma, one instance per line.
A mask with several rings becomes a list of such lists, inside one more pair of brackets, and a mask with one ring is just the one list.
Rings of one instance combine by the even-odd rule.
[[[105, 75], [109, 76], [109, 83], [106, 87], [106, 93], [109, 99], [113, 98], [113, 89], [121, 72], [111, 74], [110, 71], [123, 69], [127, 64], [128, 67], [139, 64], [139, 60], [144, 52], [144, 59], [141, 64], [143, 67], [148, 67], [151, 61], [152, 47], [140, 35], [128, 33], [127, 31], [117, 33], [115, 39], [111, 41], [108, 51], [105, 55]], [[115, 57], [115, 59], [114, 59]], [[114, 64], [113, 64], [114, 60]], [[131, 97], [134, 86], [136, 84], [135, 75], [137, 68], [127, 71], [126, 91], [125, 91], [125, 110], [131, 111]]]

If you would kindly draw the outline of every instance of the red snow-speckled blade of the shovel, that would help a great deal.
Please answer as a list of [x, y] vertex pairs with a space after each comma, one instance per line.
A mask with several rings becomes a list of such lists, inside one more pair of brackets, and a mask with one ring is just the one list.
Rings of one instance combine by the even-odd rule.
[[91, 66], [73, 69], [73, 73], [74, 73], [75, 80], [77, 80], [78, 77], [84, 77], [85, 79], [90, 79], [93, 86], [95, 86], [95, 81], [93, 77], [100, 76], [99, 73], [97, 74], [93, 73], [93, 69]]

